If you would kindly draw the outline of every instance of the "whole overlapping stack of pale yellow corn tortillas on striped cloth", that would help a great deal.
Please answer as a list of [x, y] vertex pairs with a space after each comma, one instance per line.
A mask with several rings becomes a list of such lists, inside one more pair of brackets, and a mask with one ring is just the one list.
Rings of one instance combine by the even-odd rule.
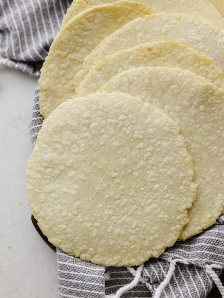
[[222, 3], [72, 2], [41, 69], [26, 175], [55, 246], [137, 266], [224, 212]]

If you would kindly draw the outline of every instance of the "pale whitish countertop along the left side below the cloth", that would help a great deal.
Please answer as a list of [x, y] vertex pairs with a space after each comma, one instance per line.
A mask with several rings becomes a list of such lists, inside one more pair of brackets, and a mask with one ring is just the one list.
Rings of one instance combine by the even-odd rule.
[[25, 189], [32, 152], [28, 121], [36, 83], [35, 77], [0, 68], [0, 297], [4, 298], [58, 298], [56, 254], [33, 227]]

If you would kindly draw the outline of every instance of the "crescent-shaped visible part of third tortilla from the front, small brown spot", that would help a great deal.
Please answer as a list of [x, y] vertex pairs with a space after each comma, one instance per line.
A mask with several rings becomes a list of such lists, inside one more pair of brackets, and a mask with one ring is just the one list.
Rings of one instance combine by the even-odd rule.
[[[224, 88], [224, 73], [197, 51], [172, 41], [159, 41], [134, 46], [106, 56], [90, 67], [89, 73], [75, 89], [76, 96], [96, 92], [119, 73], [143, 66], [167, 66], [186, 69]], [[76, 76], [75, 76], [76, 79]], [[76, 85], [76, 83], [75, 83]]]

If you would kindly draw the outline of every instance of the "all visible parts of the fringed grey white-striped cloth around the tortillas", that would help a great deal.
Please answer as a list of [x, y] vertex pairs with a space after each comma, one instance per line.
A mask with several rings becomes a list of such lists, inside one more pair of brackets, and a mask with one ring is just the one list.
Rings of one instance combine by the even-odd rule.
[[[0, 63], [39, 76], [49, 46], [60, 28], [71, 1], [0, 0]], [[30, 117], [30, 135], [35, 145], [43, 117], [35, 90]], [[166, 249], [160, 258], [152, 258], [140, 269], [97, 266], [57, 249], [58, 291], [61, 298], [104, 298], [136, 280], [121, 296], [195, 298], [207, 297], [224, 269], [224, 216], [203, 233]], [[118, 297], [118, 296], [116, 296]], [[120, 297], [120, 296], [119, 296]]]

